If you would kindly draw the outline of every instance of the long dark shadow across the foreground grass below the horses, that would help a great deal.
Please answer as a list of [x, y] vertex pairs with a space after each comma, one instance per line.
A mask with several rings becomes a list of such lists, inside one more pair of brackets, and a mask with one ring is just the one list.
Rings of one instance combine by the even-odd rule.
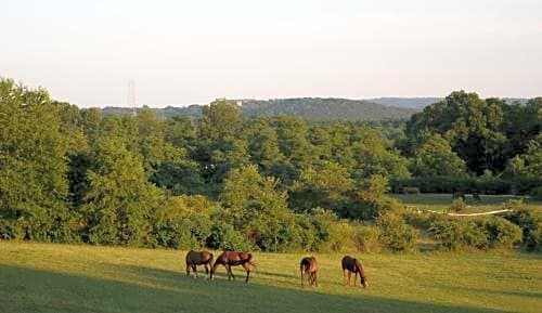
[[209, 282], [119, 266], [115, 281], [0, 265], [0, 312], [502, 312], [370, 296]]

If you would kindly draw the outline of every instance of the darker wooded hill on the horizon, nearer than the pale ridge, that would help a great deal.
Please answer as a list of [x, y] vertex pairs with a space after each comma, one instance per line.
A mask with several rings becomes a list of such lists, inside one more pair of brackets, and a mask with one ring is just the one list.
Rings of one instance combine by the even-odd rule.
[[[232, 101], [238, 103], [240, 101]], [[314, 120], [383, 120], [409, 118], [418, 112], [414, 108], [400, 108], [373, 103], [365, 100], [296, 97], [274, 100], [242, 100], [243, 116], [276, 116], [287, 115]], [[202, 115], [201, 105], [185, 107], [152, 108], [156, 115], [171, 118], [178, 115], [198, 118]], [[105, 107], [104, 115], [131, 114], [126, 107]]]

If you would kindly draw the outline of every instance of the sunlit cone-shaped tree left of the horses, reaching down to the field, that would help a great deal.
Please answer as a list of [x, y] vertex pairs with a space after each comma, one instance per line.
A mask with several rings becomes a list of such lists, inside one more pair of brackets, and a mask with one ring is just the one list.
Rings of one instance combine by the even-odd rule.
[[82, 207], [83, 238], [91, 244], [140, 246], [149, 243], [149, 213], [160, 192], [146, 181], [141, 158], [122, 141], [101, 136], [92, 148], [96, 168]]

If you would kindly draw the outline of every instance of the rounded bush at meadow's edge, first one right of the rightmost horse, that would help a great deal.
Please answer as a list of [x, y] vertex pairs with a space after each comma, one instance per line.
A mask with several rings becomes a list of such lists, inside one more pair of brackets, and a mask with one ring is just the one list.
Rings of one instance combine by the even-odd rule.
[[380, 231], [379, 240], [386, 248], [392, 251], [414, 250], [420, 234], [400, 214], [384, 213], [378, 217], [376, 224]]

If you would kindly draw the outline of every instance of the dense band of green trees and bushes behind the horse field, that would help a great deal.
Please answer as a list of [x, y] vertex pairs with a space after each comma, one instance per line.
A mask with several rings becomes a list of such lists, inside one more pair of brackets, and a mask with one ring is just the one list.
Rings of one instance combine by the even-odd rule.
[[[245, 117], [218, 100], [193, 119], [102, 115], [1, 79], [0, 238], [411, 250], [420, 221], [390, 191], [540, 197], [541, 127], [542, 97], [459, 91], [406, 122], [373, 123]], [[424, 223], [448, 249], [540, 249], [542, 238], [542, 219], [525, 211]]]

